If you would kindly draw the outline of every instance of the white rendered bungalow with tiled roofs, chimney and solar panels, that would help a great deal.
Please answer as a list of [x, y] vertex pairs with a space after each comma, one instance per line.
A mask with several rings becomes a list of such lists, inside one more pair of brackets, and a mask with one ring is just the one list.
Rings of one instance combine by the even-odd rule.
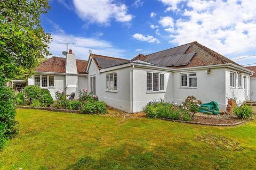
[[67, 94], [90, 89], [99, 100], [126, 112], [139, 112], [152, 100], [181, 104], [189, 95], [202, 103], [217, 101], [225, 111], [229, 98], [250, 99], [253, 71], [197, 43], [181, 45], [132, 60], [90, 54], [89, 61], [52, 57], [28, 84]]

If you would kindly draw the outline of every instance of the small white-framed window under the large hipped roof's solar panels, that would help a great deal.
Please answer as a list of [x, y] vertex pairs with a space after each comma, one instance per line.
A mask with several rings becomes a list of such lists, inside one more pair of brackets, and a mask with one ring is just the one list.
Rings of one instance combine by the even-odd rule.
[[182, 73], [180, 74], [180, 87], [196, 88], [197, 73]]

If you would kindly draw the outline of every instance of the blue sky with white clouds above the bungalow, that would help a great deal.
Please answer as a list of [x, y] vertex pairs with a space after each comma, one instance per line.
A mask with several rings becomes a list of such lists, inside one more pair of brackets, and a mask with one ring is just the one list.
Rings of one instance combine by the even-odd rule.
[[[92, 53], [131, 59], [198, 41], [230, 59], [256, 54], [254, 0], [52, 0], [42, 25], [52, 55], [66, 46], [77, 58]], [[256, 57], [237, 60], [256, 63]]]

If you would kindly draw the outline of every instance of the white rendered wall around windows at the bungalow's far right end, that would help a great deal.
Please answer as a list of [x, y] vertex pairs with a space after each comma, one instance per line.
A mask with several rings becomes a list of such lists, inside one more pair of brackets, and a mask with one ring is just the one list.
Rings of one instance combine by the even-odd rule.
[[[236, 73], [236, 87], [230, 88], [230, 71]], [[250, 99], [250, 77], [249, 74], [243, 74], [243, 77], [246, 76], [247, 87], [246, 87], [246, 97], [244, 89], [244, 81], [242, 81], [242, 88], [238, 88], [238, 74], [236, 70], [226, 69], [226, 104], [229, 98], [235, 98], [238, 104], [242, 104], [246, 98]]]

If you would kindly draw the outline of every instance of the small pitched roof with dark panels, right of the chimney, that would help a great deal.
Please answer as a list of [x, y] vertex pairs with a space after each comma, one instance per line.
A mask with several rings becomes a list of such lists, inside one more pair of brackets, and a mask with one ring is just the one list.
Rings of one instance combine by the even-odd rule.
[[129, 61], [123, 58], [109, 57], [92, 53], [90, 54], [90, 56], [97, 65], [98, 69]]

